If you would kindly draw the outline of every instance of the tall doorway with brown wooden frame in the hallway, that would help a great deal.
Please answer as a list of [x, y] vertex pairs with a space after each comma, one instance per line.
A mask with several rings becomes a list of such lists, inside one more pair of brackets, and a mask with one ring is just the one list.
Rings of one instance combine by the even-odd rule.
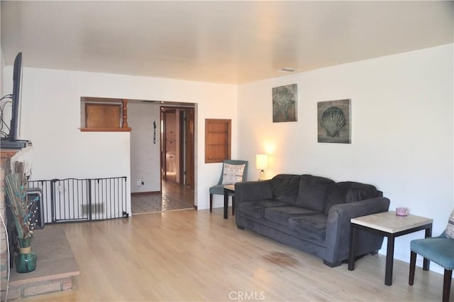
[[162, 193], [194, 195], [194, 107], [162, 106], [160, 123]]

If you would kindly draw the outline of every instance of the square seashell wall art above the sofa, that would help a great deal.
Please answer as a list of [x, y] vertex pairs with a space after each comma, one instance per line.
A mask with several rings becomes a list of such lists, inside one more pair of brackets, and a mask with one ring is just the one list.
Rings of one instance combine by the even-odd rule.
[[319, 143], [351, 144], [350, 99], [317, 103]]

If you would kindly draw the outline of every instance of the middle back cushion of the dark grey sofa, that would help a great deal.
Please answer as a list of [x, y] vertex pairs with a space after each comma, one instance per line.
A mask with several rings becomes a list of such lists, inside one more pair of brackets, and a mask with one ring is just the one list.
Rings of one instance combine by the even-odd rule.
[[326, 192], [334, 180], [320, 176], [301, 175], [299, 192], [295, 205], [309, 210], [323, 212]]

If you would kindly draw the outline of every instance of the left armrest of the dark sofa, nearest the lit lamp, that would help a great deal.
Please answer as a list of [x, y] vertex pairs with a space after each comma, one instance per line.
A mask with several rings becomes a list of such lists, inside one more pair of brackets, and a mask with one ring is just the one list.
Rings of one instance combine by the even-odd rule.
[[235, 184], [235, 203], [272, 198], [272, 181], [243, 181]]

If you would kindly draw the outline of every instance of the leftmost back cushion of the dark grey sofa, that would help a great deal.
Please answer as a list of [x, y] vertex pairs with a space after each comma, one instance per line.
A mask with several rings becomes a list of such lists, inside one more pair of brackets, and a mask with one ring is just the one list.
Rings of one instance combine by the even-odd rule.
[[272, 194], [275, 200], [294, 204], [298, 195], [299, 175], [279, 174], [272, 178]]

